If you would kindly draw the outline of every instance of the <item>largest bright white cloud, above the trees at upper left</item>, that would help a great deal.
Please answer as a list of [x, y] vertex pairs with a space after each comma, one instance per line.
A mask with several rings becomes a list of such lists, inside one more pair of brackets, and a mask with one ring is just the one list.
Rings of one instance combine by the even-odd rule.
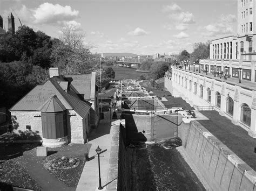
[[36, 24], [62, 24], [78, 17], [79, 11], [72, 10], [71, 6], [43, 3], [33, 11]]

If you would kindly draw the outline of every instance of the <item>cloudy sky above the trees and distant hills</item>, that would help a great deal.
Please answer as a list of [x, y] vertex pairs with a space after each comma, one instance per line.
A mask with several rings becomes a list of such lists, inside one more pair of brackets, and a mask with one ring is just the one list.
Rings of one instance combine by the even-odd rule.
[[65, 25], [85, 34], [92, 53], [129, 52], [178, 54], [237, 34], [234, 0], [0, 0], [0, 15], [8, 15], [34, 31], [53, 38]]

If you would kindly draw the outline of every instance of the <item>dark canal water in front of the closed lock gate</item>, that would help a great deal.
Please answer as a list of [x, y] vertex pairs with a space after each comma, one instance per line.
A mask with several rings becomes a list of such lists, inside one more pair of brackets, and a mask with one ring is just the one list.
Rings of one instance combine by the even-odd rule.
[[130, 144], [127, 147], [129, 190], [205, 190], [176, 150], [181, 141]]

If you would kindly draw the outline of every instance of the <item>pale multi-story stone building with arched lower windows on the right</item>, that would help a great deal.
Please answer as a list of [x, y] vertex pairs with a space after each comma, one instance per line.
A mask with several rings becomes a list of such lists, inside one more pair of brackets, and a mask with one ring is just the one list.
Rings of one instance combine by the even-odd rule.
[[196, 72], [172, 67], [165, 87], [195, 108], [219, 111], [256, 138], [256, 0], [237, 2], [237, 35], [212, 40], [210, 59], [200, 60]]

